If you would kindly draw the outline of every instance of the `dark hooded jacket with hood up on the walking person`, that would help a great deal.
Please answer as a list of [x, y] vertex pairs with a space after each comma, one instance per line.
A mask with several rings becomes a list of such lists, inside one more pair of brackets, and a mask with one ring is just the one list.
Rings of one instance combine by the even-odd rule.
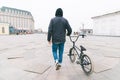
[[55, 13], [55, 17], [51, 19], [47, 40], [50, 41], [52, 38], [53, 43], [65, 42], [66, 41], [66, 30], [67, 35], [69, 36], [72, 32], [72, 29], [67, 21], [63, 17], [63, 11], [61, 8], [58, 8]]

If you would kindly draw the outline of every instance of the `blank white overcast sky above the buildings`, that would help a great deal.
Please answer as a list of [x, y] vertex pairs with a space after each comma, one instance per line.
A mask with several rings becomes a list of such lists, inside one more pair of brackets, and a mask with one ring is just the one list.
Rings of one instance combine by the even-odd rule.
[[30, 11], [35, 20], [35, 28], [47, 31], [50, 19], [57, 8], [63, 9], [63, 16], [73, 30], [92, 28], [91, 17], [120, 11], [120, 0], [0, 0], [0, 7]]

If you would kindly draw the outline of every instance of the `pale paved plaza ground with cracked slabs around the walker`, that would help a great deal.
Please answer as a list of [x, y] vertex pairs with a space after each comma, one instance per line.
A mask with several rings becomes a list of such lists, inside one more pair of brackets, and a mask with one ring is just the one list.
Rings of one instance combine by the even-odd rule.
[[51, 45], [46, 34], [0, 36], [0, 80], [119, 80], [120, 37], [79, 37], [93, 62], [93, 73], [86, 75], [81, 66], [71, 63], [67, 54], [72, 43], [67, 37], [63, 64], [55, 70]]

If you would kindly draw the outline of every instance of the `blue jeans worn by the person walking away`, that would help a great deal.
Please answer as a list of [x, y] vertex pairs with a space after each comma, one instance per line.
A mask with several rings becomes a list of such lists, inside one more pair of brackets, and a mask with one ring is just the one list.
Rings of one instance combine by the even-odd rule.
[[55, 61], [58, 60], [59, 63], [62, 63], [63, 51], [64, 51], [64, 42], [52, 44], [52, 53]]

